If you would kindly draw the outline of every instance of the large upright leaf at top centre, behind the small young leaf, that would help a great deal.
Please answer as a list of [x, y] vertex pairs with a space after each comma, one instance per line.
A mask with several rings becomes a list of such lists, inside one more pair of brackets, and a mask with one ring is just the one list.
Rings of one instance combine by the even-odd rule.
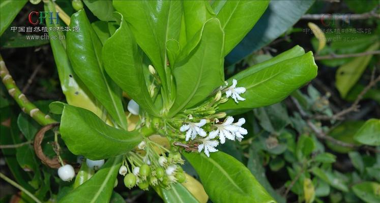
[[[113, 6], [131, 25], [137, 44], [148, 55], [160, 76], [164, 100], [169, 98], [171, 82], [166, 58], [166, 42], [178, 41], [183, 6], [180, 1], [113, 1]], [[167, 97], [167, 98], [166, 98]], [[166, 101], [168, 102], [168, 101]]]

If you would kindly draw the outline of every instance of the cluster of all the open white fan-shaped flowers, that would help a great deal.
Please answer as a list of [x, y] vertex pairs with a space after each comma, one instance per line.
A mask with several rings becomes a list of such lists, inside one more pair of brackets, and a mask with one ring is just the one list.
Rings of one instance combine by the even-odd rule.
[[[225, 89], [225, 93], [227, 98], [231, 97], [236, 103], [239, 103], [238, 100], [245, 100], [245, 98], [241, 97], [239, 94], [244, 93], [246, 89], [244, 87], [236, 87], [237, 84], [238, 81], [233, 79], [232, 85]], [[216, 129], [209, 132], [209, 136], [207, 136], [206, 131], [201, 128], [207, 123], [206, 119], [201, 119], [198, 123], [188, 122], [181, 126], [180, 131], [186, 131], [186, 141], [189, 141], [190, 138], [191, 140], [194, 140], [197, 135], [203, 137], [200, 139], [202, 144], [198, 145], [198, 152], [203, 150], [204, 153], [210, 157], [210, 152], [218, 151], [215, 147], [219, 145], [219, 142], [213, 139], [218, 137], [221, 144], [225, 143], [226, 138], [228, 140], [242, 141], [244, 138], [243, 135], [248, 133], [247, 130], [242, 127], [245, 123], [244, 118], [240, 118], [236, 123], [233, 123], [233, 120], [232, 116], [228, 116], [223, 123], [213, 124], [212, 127]]]

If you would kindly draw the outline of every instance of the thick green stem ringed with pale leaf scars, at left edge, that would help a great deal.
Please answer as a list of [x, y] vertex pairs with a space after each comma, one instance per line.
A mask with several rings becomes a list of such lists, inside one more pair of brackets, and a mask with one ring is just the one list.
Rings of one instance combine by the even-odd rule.
[[15, 99], [18, 106], [26, 114], [30, 115], [34, 120], [39, 124], [45, 126], [47, 124], [56, 123], [54, 119], [50, 118], [49, 115], [44, 114], [39, 110], [31, 101], [29, 101], [26, 96], [20, 91], [16, 86], [15, 81], [12, 76], [9, 74], [7, 66], [3, 60], [3, 57], [0, 55], [0, 77], [8, 90], [8, 93]]

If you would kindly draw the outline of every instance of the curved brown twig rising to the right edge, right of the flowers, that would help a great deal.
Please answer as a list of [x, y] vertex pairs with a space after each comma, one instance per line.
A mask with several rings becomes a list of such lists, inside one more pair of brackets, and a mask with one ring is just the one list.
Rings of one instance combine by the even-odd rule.
[[[375, 70], [375, 68], [373, 69]], [[358, 97], [355, 99], [354, 103], [348, 107], [347, 109], [343, 109], [342, 111], [332, 115], [315, 115], [313, 116], [314, 119], [317, 120], [341, 120], [343, 119], [343, 116], [354, 111], [359, 110], [359, 102], [363, 99], [363, 96], [370, 90], [376, 83], [380, 82], [380, 76], [377, 76], [377, 78], [374, 78], [374, 71], [371, 75], [371, 81], [368, 83], [368, 85], [358, 94]]]

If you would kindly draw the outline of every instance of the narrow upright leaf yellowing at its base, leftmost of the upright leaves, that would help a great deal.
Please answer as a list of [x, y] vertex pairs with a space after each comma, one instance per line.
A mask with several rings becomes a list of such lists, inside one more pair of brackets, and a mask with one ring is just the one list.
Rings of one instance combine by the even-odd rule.
[[[44, 8], [46, 12], [55, 13], [54, 4], [52, 2], [44, 4]], [[46, 19], [48, 20], [48, 18]], [[66, 40], [53, 40], [54, 37], [64, 36], [64, 33], [61, 31], [53, 31], [53, 28], [58, 25], [46, 23], [46, 26], [49, 27], [50, 46], [57, 66], [61, 88], [66, 96], [67, 103], [90, 110], [99, 117], [102, 117], [103, 113], [99, 108], [99, 106], [101, 106], [99, 101], [94, 98], [72, 69], [66, 53]], [[55, 30], [57, 29], [55, 28]]]

